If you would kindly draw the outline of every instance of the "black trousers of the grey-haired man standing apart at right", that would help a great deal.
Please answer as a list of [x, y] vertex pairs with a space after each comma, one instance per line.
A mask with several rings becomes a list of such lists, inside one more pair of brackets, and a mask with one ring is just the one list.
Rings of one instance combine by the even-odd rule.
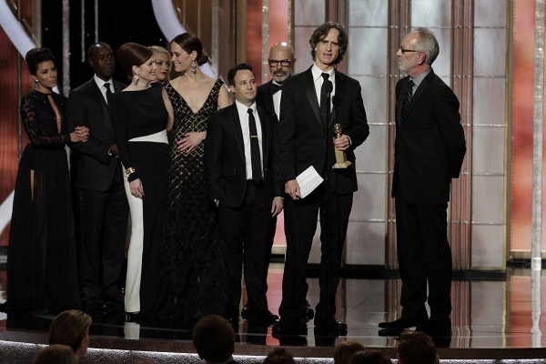
[[448, 204], [410, 205], [397, 193], [395, 207], [401, 317], [410, 321], [427, 318], [428, 283], [430, 319], [445, 322], [451, 312]]

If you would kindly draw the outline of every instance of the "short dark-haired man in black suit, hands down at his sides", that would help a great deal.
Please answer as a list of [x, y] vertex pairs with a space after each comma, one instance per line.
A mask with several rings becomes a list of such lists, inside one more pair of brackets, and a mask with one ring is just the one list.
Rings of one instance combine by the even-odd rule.
[[210, 116], [205, 147], [208, 195], [217, 205], [219, 236], [227, 265], [227, 319], [238, 321], [244, 264], [248, 321], [272, 324], [263, 282], [272, 217], [282, 210], [282, 187], [273, 163], [277, 117], [256, 105], [252, 67], [227, 73], [235, 104]]

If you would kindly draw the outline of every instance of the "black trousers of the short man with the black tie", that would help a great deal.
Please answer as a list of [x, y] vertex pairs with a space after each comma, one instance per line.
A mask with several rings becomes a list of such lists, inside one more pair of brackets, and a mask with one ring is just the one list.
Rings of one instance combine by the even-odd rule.
[[268, 265], [266, 249], [269, 248], [273, 220], [264, 183], [248, 181], [240, 207], [227, 207], [220, 200], [218, 222], [229, 281], [226, 314], [238, 312], [243, 266], [248, 308], [268, 309], [267, 285], [264, 283]]

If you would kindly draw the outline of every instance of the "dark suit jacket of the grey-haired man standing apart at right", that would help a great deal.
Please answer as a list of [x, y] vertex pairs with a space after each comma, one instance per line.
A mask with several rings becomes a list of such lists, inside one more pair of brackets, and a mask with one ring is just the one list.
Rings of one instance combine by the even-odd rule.
[[[397, 190], [410, 204], [437, 205], [450, 200], [466, 152], [459, 100], [430, 71], [411, 98], [404, 119], [402, 105], [410, 77], [396, 85], [396, 140], [392, 197]], [[397, 189], [399, 188], [399, 189]]]

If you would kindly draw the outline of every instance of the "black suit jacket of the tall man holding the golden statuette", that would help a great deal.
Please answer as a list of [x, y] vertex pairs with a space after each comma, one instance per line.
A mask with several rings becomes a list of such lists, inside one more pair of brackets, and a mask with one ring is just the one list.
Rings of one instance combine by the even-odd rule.
[[[339, 123], [351, 139], [347, 169], [332, 169], [336, 163], [332, 138], [333, 125]], [[369, 136], [368, 120], [357, 80], [336, 71], [334, 107], [329, 126], [322, 126], [319, 101], [311, 67], [283, 82], [275, 153], [283, 182], [295, 179], [309, 166], [315, 167], [339, 194], [357, 190], [354, 150]]]

